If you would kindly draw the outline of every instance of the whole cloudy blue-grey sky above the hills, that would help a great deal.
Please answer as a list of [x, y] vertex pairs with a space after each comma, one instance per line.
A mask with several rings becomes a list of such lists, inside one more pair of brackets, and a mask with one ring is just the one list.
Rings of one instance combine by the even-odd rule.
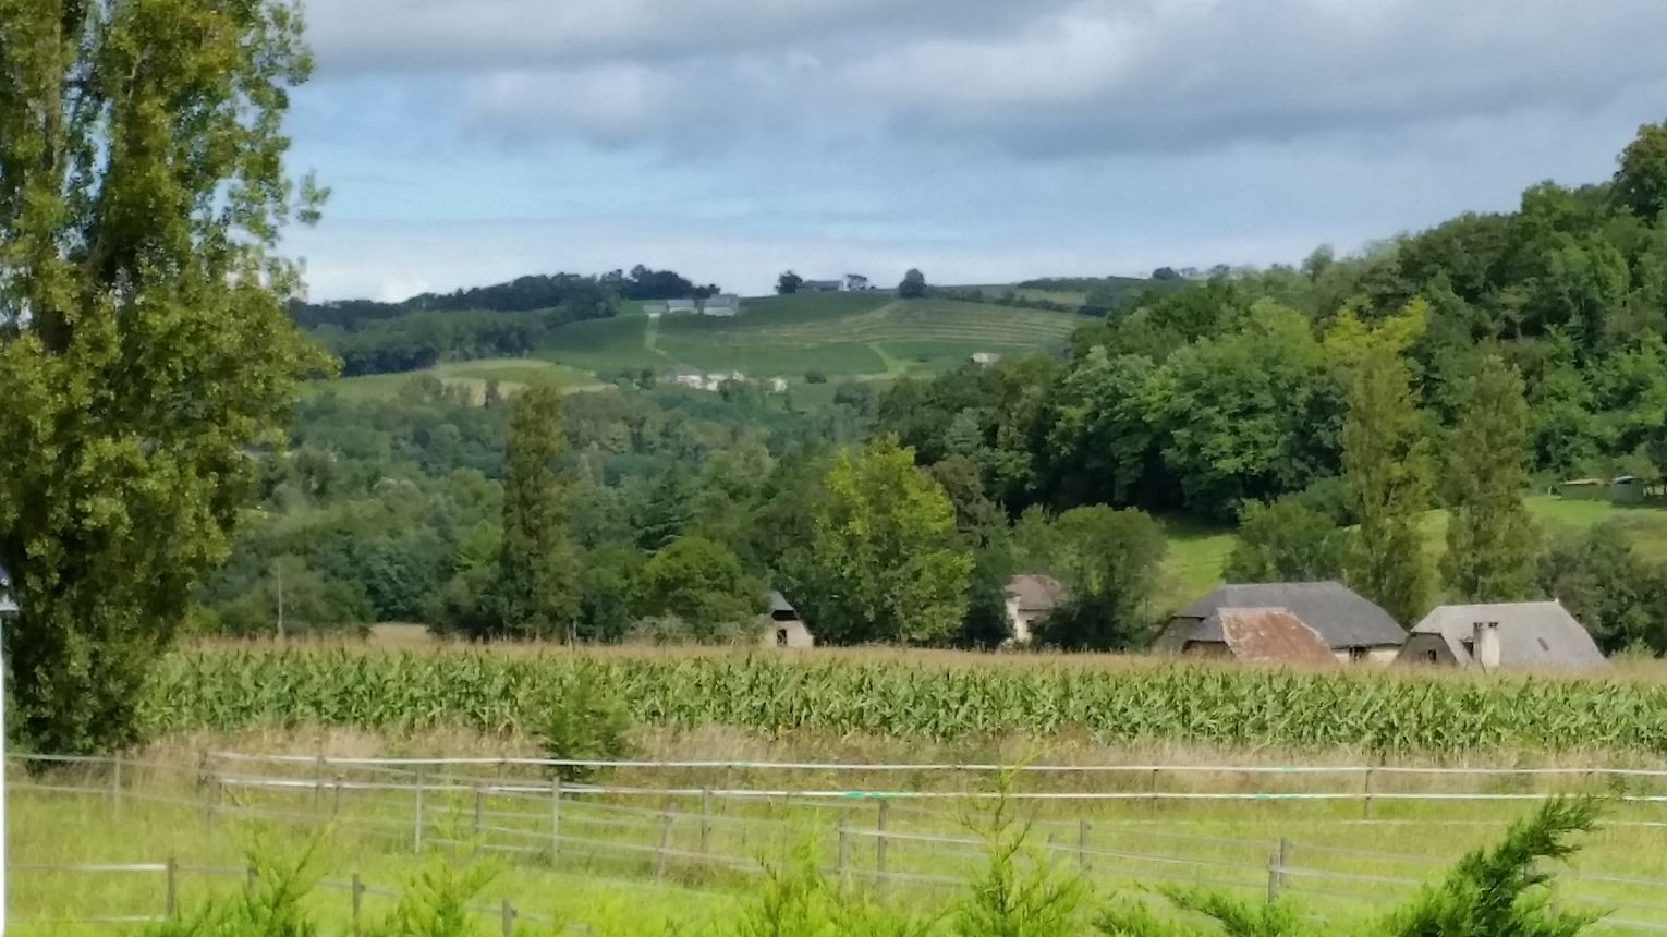
[[308, 0], [315, 300], [1299, 262], [1597, 182], [1660, 0]]

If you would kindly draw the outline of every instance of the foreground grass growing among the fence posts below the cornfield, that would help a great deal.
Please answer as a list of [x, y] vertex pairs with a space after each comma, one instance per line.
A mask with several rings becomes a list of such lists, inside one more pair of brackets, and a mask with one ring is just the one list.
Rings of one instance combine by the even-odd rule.
[[[70, 787], [98, 784], [100, 779], [58, 777], [55, 782]], [[278, 857], [280, 864], [283, 857], [310, 855], [310, 874], [325, 884], [312, 889], [303, 910], [327, 932], [347, 932], [352, 922], [352, 895], [338, 884], [357, 874], [370, 885], [362, 915], [372, 920], [392, 912], [395, 904], [395, 899], [377, 890], [408, 889], [423, 867], [433, 867], [440, 860], [463, 869], [487, 865], [493, 872], [475, 897], [483, 910], [473, 915], [480, 924], [473, 932], [480, 934], [498, 932], [490, 912], [502, 900], [510, 900], [527, 915], [582, 922], [592, 934], [733, 934], [737, 917], [758, 912], [760, 889], [768, 895], [782, 885], [783, 874], [765, 875], [765, 869], [797, 870], [785, 875], [808, 872], [808, 880], [800, 875], [795, 887], [827, 889], [817, 899], [820, 902], [832, 900], [832, 885], [818, 880], [823, 880], [823, 872], [835, 862], [847, 869], [849, 890], [845, 900], [837, 902], [840, 905], [867, 915], [864, 909], [874, 902], [887, 910], [872, 920], [915, 920], [925, 927], [919, 934], [984, 934], [960, 930], [955, 922], [965, 920], [969, 909], [979, 910], [980, 900], [999, 897], [1002, 900], [997, 905], [1012, 900], [1017, 889], [1002, 889], [1002, 895], [982, 890], [1004, 877], [1010, 884], [1069, 880], [1080, 892], [1084, 910], [1117, 894], [1142, 899], [1162, 882], [1209, 884], [1220, 894], [1257, 905], [1267, 887], [1269, 850], [1282, 849], [1280, 837], [1287, 839], [1287, 890], [1300, 895], [1307, 914], [1324, 915], [1330, 930], [1320, 932], [1342, 932], [1349, 924], [1374, 914], [1384, 900], [1409, 900], [1417, 894], [1412, 882], [1434, 882], [1444, 867], [1459, 859], [1460, 850], [1497, 842], [1509, 822], [1532, 812], [1529, 805], [1497, 805], [1474, 814], [1437, 802], [1405, 805], [1395, 815], [1360, 827], [1354, 825], [1357, 817], [1345, 815], [1335, 805], [1317, 805], [1309, 819], [1294, 819], [1255, 802], [1164, 807], [1157, 814], [1149, 814], [1145, 807], [1104, 804], [1075, 805], [1069, 810], [1019, 802], [965, 804], [960, 809], [894, 804], [887, 829], [900, 839], [889, 844], [885, 857], [890, 885], [879, 889], [865, 884], [874, 880], [872, 872], [880, 862], [875, 840], [857, 837], [849, 855], [839, 859], [837, 842], [827, 835], [842, 817], [850, 830], [872, 830], [872, 802], [822, 807], [780, 800], [720, 802], [712, 814], [712, 855], [725, 862], [738, 860], [752, 869], [723, 872], [690, 859], [697, 850], [693, 825], [683, 825], [677, 835], [660, 839], [660, 834], [652, 832], [657, 824], [642, 824], [648, 830], [642, 835], [682, 854], [670, 862], [657, 860], [652, 850], [630, 852], [638, 834], [628, 825], [617, 825], [617, 820], [628, 815], [620, 810], [628, 812], [633, 802], [618, 797], [592, 797], [590, 807], [568, 802], [563, 822], [578, 827], [578, 832], [570, 834], [573, 842], [602, 844], [602, 850], [582, 854], [563, 847], [568, 852], [563, 852], [553, 869], [548, 854], [538, 850], [507, 860], [493, 859], [502, 855], [493, 847], [517, 840], [493, 829], [482, 837], [472, 835], [467, 797], [430, 800], [430, 847], [425, 857], [418, 857], [412, 854], [407, 832], [378, 832], [378, 824], [397, 814], [390, 814], [390, 807], [398, 807], [390, 804], [390, 797], [387, 792], [355, 792], [333, 800], [328, 795], [318, 799], [307, 790], [245, 790], [210, 799], [178, 775], [172, 780], [138, 780], [127, 790], [120, 807], [102, 795], [13, 790], [8, 845], [12, 862], [22, 867], [12, 879], [10, 907], [13, 922], [20, 922], [13, 934], [90, 934], [95, 932], [92, 927], [75, 922], [102, 915], [155, 915], [167, 900], [165, 879], [155, 874], [53, 872], [28, 869], [30, 865], [175, 859], [190, 869], [223, 869], [225, 874], [218, 875], [200, 870], [178, 875], [175, 904], [180, 912], [188, 912], [208, 900], [238, 894], [245, 884], [242, 870], [252, 854]], [[210, 802], [220, 809], [203, 809]], [[408, 807], [410, 804], [403, 805], [407, 810]], [[527, 804], [520, 807], [525, 810]], [[1644, 877], [1662, 869], [1660, 837], [1650, 829], [1629, 825], [1639, 819], [1629, 807], [1617, 805], [1615, 810], [1620, 812], [1612, 817], [1612, 825], [1585, 839], [1579, 887], [1572, 887], [1570, 880], [1570, 887], [1560, 892], [1565, 907], [1639, 905], [1647, 910], [1650, 885], [1600, 880], [1604, 874], [1615, 879], [1629, 872]], [[265, 812], [270, 819], [243, 819], [257, 812]], [[513, 802], [487, 802], [488, 827], [503, 827], [507, 832], [505, 825], [512, 827], [515, 815]], [[688, 814], [682, 819], [688, 820]], [[607, 820], [608, 825], [597, 825], [598, 820]], [[782, 832], [737, 840], [733, 830], [748, 829], [745, 824], [753, 822], [773, 824]], [[1075, 830], [1082, 822], [1094, 824], [1094, 837], [1087, 840], [1090, 852], [1077, 854]], [[955, 839], [934, 840], [945, 835]], [[438, 844], [442, 837], [457, 840], [457, 845]], [[990, 860], [990, 845], [1014, 842], [1022, 847], [1020, 860], [1002, 870]], [[610, 850], [605, 844], [615, 844], [615, 849]], [[705, 847], [698, 849], [705, 852]], [[1322, 872], [1330, 877], [1317, 877]], [[1035, 879], [1039, 874], [1044, 879]], [[930, 877], [945, 880], [939, 884]], [[1379, 880], [1409, 884], [1385, 885], [1377, 884]], [[969, 892], [969, 884], [975, 882], [982, 884], [980, 890]], [[992, 907], [995, 905], [982, 905], [982, 912], [990, 912]], [[775, 914], [797, 912], [777, 909]], [[1657, 920], [1629, 914], [1647, 922]], [[1085, 917], [1074, 914], [1072, 920], [1080, 927]], [[1667, 919], [1657, 924], [1667, 925]], [[1085, 930], [1070, 929], [1060, 934], [1082, 932]]]

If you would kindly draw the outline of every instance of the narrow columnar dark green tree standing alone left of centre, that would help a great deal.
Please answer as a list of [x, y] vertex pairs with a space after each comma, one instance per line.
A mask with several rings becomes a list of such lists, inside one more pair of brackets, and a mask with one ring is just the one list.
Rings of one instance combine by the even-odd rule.
[[505, 635], [567, 639], [578, 619], [578, 560], [557, 467], [562, 447], [562, 392], [548, 383], [520, 392], [503, 452], [497, 599]]

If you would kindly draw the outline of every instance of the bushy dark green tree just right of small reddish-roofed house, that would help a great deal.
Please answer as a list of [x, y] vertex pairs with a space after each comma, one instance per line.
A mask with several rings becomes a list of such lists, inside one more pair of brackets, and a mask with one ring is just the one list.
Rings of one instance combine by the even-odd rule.
[[1072, 650], [1125, 650], [1152, 635], [1149, 600], [1169, 545], [1142, 510], [1104, 505], [1054, 520], [1049, 562], [1070, 599], [1037, 629], [1042, 644]]

